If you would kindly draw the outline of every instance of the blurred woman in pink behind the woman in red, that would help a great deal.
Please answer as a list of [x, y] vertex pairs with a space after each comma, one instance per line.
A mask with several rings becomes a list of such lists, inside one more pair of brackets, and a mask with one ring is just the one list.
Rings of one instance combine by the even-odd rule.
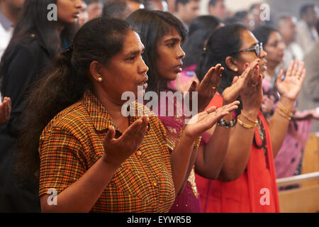
[[[278, 80], [277, 75], [279, 74], [279, 70], [276, 67], [281, 64], [285, 45], [279, 31], [269, 26], [256, 28], [254, 35], [263, 43], [264, 50], [267, 52], [267, 70], [264, 72], [265, 77], [262, 81], [264, 90], [262, 111], [266, 115], [267, 120], [270, 121], [277, 107], [279, 106], [280, 108], [279, 101], [281, 97], [275, 83]], [[269, 102], [272, 104], [269, 104]], [[268, 109], [268, 106], [271, 106], [271, 108]], [[315, 114], [313, 110], [301, 112], [293, 109], [284, 142], [274, 159], [277, 178], [300, 174], [303, 149], [308, 140], [311, 119], [319, 117], [319, 114], [313, 114]]]

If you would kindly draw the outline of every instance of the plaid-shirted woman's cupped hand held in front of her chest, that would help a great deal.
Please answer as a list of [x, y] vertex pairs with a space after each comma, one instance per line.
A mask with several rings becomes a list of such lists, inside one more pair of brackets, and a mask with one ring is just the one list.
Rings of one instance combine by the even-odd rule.
[[119, 138], [114, 138], [116, 131], [113, 126], [108, 128], [103, 139], [105, 153], [103, 160], [118, 168], [130, 155], [132, 155], [140, 147], [142, 139], [147, 132], [147, 124], [149, 119], [142, 116], [140, 119], [130, 125]]

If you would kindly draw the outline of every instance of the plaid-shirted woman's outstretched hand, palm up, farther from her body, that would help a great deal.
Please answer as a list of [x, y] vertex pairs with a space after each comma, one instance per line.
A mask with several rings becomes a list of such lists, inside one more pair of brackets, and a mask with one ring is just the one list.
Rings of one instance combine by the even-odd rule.
[[196, 139], [203, 132], [207, 131], [209, 128], [213, 127], [223, 116], [230, 114], [232, 111], [238, 108], [239, 101], [234, 101], [231, 104], [222, 106], [216, 109], [215, 106], [203, 111], [196, 116], [192, 117], [191, 120], [185, 127], [185, 135], [189, 138]]

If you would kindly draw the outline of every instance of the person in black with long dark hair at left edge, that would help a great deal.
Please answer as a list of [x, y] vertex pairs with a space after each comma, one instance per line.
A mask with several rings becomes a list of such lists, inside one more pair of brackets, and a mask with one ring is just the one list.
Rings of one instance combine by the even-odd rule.
[[[57, 5], [57, 20], [47, 19], [47, 6]], [[0, 126], [0, 211], [40, 211], [37, 182], [21, 182], [13, 171], [21, 114], [30, 85], [52, 66], [55, 55], [71, 42], [82, 7], [80, 0], [26, 0], [0, 63], [1, 94], [11, 98], [11, 116]], [[18, 182], [18, 183], [17, 183]], [[18, 184], [25, 184], [19, 187]]]

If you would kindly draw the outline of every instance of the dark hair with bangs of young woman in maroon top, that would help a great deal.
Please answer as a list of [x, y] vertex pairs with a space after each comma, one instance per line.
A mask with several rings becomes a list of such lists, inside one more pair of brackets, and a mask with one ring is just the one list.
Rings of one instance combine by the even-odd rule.
[[145, 45], [145, 52], [142, 55], [145, 64], [149, 67], [147, 91], [159, 92], [166, 88], [167, 81], [159, 78], [157, 74], [157, 43], [164, 36], [176, 28], [181, 40], [186, 38], [186, 28], [179, 19], [172, 13], [164, 11], [153, 11], [138, 9], [126, 19], [140, 34], [140, 39]]

